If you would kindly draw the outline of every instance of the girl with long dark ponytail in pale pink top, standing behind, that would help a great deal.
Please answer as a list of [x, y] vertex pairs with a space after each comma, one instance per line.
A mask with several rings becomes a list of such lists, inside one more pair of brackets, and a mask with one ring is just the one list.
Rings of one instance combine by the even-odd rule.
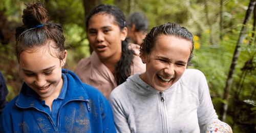
[[78, 62], [75, 73], [82, 82], [98, 88], [109, 99], [111, 91], [127, 77], [145, 72], [145, 64], [134, 52], [139, 48], [129, 48], [126, 21], [117, 7], [94, 8], [87, 16], [86, 29], [93, 53]]

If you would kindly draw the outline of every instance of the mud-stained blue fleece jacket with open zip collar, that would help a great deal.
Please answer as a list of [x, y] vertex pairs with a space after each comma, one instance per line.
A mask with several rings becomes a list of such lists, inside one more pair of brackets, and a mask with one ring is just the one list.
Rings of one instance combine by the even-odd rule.
[[42, 107], [41, 101], [27, 96], [31, 89], [23, 84], [20, 94], [5, 107], [0, 118], [1, 132], [116, 132], [108, 100], [94, 87], [84, 84], [69, 70], [68, 90], [57, 117]]

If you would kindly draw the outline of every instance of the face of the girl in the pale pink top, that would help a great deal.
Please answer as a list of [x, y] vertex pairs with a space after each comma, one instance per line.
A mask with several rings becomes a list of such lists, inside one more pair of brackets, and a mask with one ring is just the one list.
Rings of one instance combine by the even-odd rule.
[[119, 60], [122, 53], [122, 41], [127, 28], [120, 30], [110, 14], [97, 13], [88, 22], [88, 39], [100, 60]]

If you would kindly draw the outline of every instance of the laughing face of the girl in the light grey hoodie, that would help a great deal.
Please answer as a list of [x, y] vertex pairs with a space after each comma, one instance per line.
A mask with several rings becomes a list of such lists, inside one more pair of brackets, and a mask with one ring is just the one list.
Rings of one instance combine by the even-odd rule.
[[140, 77], [157, 91], [165, 91], [184, 73], [192, 43], [170, 35], [158, 36], [149, 55], [141, 55], [146, 72]]

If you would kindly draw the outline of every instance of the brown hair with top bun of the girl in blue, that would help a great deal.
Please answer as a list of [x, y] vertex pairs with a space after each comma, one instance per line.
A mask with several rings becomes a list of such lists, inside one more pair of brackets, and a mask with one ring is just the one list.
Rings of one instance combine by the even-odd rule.
[[34, 50], [35, 48], [49, 45], [47, 41], [52, 40], [58, 50], [57, 58], [65, 58], [65, 37], [62, 27], [49, 21], [49, 16], [45, 6], [40, 2], [26, 4], [27, 8], [23, 10], [23, 26], [16, 28], [16, 48], [15, 54], [19, 61], [20, 54], [25, 50]]

